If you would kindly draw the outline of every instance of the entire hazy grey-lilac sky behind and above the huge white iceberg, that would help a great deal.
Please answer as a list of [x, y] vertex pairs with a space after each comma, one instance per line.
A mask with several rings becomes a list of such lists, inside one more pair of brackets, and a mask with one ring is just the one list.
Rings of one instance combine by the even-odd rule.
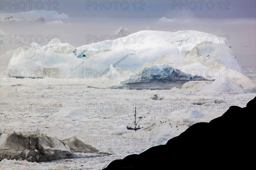
[[[40, 45], [46, 45], [57, 35], [61, 42], [78, 47], [96, 41], [88, 41], [88, 35], [104, 37], [114, 34], [119, 27], [127, 28], [131, 33], [145, 29], [197, 30], [228, 37], [240, 64], [256, 65], [255, 0], [1, 0], [0, 5], [1, 30], [8, 35], [41, 35], [44, 41]], [[32, 22], [4, 20], [6, 16], [33, 10], [56, 11], [58, 16], [44, 17], [44, 23], [37, 22], [35, 15], [26, 16], [33, 18]], [[62, 13], [68, 17], [63, 17]], [[23, 44], [1, 44], [1, 55], [29, 44], [28, 40]]]

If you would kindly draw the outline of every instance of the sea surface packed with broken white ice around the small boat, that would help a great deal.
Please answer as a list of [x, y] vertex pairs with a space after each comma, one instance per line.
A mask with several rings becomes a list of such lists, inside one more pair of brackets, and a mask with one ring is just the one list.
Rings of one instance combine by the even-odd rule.
[[[255, 77], [255, 71], [246, 71]], [[99, 170], [115, 159], [166, 144], [196, 122], [209, 122], [231, 105], [244, 107], [254, 93], [196, 93], [186, 89], [86, 88], [86, 79], [1, 78], [0, 131], [35, 131], [58, 139], [76, 136], [109, 156], [31, 163], [6, 160], [1, 170]], [[154, 100], [154, 95], [158, 100]], [[141, 130], [126, 130], [137, 115]], [[155, 125], [154, 125], [155, 119]]]

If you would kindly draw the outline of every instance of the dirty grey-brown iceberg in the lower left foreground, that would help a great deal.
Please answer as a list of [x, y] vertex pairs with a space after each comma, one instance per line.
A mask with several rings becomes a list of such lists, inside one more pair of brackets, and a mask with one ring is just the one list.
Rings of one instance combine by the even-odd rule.
[[0, 161], [3, 159], [32, 162], [79, 158], [77, 154], [98, 154], [99, 151], [77, 138], [60, 140], [35, 132], [15, 133], [5, 129], [0, 134]]

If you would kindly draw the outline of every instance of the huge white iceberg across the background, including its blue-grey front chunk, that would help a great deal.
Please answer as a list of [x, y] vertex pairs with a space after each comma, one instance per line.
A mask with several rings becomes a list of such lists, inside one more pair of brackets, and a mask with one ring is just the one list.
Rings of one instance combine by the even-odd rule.
[[[78, 48], [57, 39], [44, 46], [33, 42], [13, 53], [8, 68], [9, 77], [86, 78], [95, 88], [215, 92], [218, 85], [228, 93], [252, 88], [230, 42], [190, 30], [139, 31]], [[22, 69], [26, 74], [18, 74]]]

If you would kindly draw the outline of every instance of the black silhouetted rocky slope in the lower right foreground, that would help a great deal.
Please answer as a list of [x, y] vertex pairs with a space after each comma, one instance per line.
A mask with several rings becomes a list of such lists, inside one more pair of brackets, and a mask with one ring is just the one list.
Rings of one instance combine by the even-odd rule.
[[104, 170], [243, 168], [253, 165], [256, 98], [231, 106], [209, 123], [196, 123], [167, 144], [112, 161]]

